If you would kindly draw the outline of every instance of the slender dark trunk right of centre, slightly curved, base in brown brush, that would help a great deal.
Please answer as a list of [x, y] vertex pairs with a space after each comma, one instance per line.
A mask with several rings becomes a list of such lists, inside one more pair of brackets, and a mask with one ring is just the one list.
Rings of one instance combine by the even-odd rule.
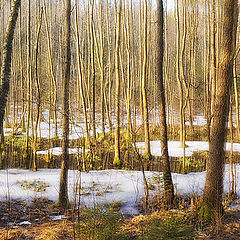
[[165, 107], [165, 92], [163, 85], [163, 3], [162, 0], [157, 0], [157, 56], [156, 56], [156, 81], [158, 86], [159, 98], [159, 118], [160, 118], [160, 141], [163, 162], [163, 180], [164, 180], [164, 202], [172, 204], [174, 198], [174, 188], [170, 171], [170, 162], [168, 156], [167, 143], [167, 122], [166, 122], [166, 107]]

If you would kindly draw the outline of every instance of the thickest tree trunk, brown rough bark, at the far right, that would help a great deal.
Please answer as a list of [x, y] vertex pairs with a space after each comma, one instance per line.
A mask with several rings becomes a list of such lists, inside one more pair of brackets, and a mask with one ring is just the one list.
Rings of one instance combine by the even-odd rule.
[[225, 167], [225, 140], [230, 88], [233, 82], [233, 57], [238, 14], [237, 2], [237, 0], [224, 0], [222, 3], [224, 24], [203, 198], [205, 217], [211, 217], [215, 220], [219, 220], [223, 214], [222, 194]]

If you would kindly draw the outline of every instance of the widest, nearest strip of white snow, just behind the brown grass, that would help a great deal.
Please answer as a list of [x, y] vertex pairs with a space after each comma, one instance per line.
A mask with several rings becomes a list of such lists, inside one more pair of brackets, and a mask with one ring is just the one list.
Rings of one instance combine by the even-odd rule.
[[[236, 165], [236, 172], [240, 165]], [[228, 191], [231, 186], [229, 166], [226, 165], [224, 189]], [[154, 184], [153, 177], [161, 173], [146, 172], [148, 180]], [[206, 172], [177, 174], [173, 173], [175, 190], [179, 194], [202, 194]], [[59, 169], [40, 169], [37, 172], [23, 169], [0, 170], [0, 200], [19, 199], [31, 202], [36, 197], [48, 198], [53, 201], [58, 199]], [[139, 214], [137, 204], [144, 196], [142, 173], [139, 171], [102, 170], [81, 173], [69, 170], [68, 189], [70, 201], [74, 201], [76, 183], [81, 179], [81, 204], [94, 206], [121, 202], [123, 214]], [[23, 189], [22, 183], [38, 182], [46, 184], [45, 191]], [[240, 179], [237, 177], [237, 194], [240, 196]], [[78, 188], [79, 189], [79, 188]], [[157, 189], [157, 188], [156, 188]]]

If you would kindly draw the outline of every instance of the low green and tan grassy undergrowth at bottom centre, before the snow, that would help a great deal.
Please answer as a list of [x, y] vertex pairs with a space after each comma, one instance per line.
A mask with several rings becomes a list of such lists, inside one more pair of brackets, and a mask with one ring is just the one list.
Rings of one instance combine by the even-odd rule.
[[78, 239], [191, 240], [197, 232], [183, 213], [157, 212], [124, 220], [112, 206], [86, 208], [76, 224]]

